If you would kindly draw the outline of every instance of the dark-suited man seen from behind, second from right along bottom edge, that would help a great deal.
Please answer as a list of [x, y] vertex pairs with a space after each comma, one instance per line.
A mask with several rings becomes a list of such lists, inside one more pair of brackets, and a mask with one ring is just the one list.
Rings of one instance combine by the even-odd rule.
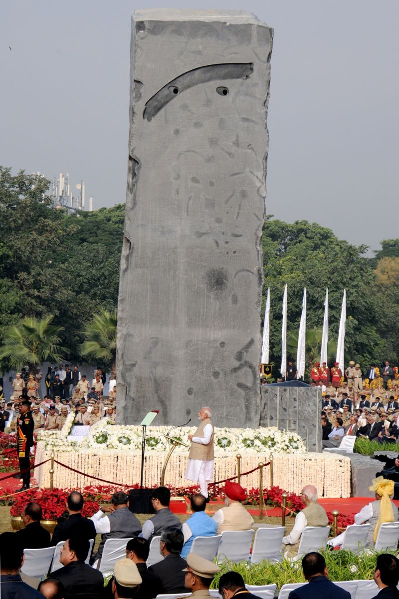
[[350, 599], [348, 591], [328, 580], [325, 559], [320, 553], [306, 553], [302, 558], [302, 569], [309, 584], [291, 591], [288, 599]]

